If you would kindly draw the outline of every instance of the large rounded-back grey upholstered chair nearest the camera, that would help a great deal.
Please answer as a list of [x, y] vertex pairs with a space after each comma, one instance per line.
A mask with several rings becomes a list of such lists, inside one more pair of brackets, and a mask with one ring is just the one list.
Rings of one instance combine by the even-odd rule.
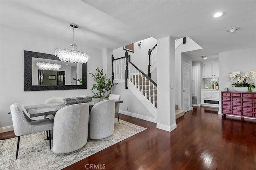
[[53, 152], [70, 154], [81, 149], [88, 139], [89, 105], [74, 104], [59, 109], [54, 118]]

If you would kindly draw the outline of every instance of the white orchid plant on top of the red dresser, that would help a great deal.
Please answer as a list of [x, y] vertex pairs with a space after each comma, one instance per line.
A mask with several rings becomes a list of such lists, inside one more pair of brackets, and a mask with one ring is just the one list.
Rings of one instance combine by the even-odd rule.
[[231, 84], [232, 87], [248, 87], [247, 92], [252, 92], [255, 88], [253, 83], [247, 83], [246, 80], [256, 80], [256, 71], [248, 71], [245, 75], [241, 75], [240, 71], [232, 71], [228, 74], [229, 81], [233, 81], [236, 78], [236, 83]]

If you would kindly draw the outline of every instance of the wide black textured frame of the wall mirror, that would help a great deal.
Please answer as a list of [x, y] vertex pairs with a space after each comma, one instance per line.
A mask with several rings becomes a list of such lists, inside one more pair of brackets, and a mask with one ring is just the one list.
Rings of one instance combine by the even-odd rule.
[[32, 85], [33, 58], [60, 61], [55, 55], [24, 50], [24, 91], [87, 89], [86, 63], [82, 64], [82, 85]]

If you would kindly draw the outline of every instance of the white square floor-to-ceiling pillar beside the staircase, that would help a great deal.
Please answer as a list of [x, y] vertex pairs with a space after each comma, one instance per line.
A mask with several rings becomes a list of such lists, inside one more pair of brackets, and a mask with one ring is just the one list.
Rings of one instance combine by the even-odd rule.
[[[164, 37], [158, 39], [157, 68], [157, 125], [159, 129], [172, 131], [177, 127], [175, 122], [175, 39]], [[174, 87], [171, 89], [171, 85]]]

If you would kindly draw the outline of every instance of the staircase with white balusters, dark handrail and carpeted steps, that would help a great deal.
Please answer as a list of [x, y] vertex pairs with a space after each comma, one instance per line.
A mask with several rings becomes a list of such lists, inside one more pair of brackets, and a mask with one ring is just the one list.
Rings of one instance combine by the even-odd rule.
[[[148, 67], [150, 68], [150, 61]], [[145, 74], [130, 61], [127, 51], [125, 57], [118, 59], [114, 59], [112, 55], [112, 80], [124, 80], [125, 88], [129, 88], [157, 120], [157, 84], [148, 75], [150, 73]], [[178, 105], [175, 105], [175, 115], [176, 119], [184, 115]]]

